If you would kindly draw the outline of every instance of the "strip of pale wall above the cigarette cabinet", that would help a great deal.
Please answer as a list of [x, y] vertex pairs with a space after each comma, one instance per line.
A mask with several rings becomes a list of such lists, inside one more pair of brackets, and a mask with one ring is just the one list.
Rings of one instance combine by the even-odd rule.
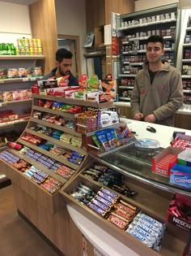
[[179, 0], [138, 0], [135, 2], [134, 11], [142, 11], [150, 8], [161, 7], [175, 2], [179, 2]]

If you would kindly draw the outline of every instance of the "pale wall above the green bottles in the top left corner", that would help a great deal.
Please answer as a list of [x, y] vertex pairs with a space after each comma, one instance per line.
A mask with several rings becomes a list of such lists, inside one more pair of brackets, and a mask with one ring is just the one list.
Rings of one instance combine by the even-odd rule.
[[16, 39], [21, 37], [31, 38], [28, 6], [0, 2], [0, 43], [16, 45]]

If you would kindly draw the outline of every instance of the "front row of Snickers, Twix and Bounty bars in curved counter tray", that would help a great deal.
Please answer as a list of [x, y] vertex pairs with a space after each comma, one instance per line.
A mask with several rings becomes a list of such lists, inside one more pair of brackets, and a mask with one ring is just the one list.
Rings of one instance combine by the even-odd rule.
[[142, 213], [128, 202], [124, 202], [117, 193], [104, 188], [96, 193], [87, 185], [79, 184], [70, 195], [98, 215], [108, 219], [117, 228], [128, 232], [151, 249], [159, 251], [165, 224]]

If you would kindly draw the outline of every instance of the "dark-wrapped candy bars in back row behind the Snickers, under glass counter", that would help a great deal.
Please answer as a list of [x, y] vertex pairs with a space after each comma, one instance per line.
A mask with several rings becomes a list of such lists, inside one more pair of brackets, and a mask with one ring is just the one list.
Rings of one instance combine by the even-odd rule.
[[123, 175], [121, 173], [99, 163], [93, 163], [91, 167], [88, 167], [86, 171], [83, 171], [83, 175], [91, 180], [96, 180], [101, 184], [104, 184], [126, 197], [133, 197], [136, 195], [136, 191], [129, 189], [129, 187], [124, 184]]

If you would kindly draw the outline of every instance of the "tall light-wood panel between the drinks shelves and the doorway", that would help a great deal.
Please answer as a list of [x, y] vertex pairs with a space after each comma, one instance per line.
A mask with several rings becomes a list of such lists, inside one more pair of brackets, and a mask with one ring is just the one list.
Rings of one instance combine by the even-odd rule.
[[45, 55], [45, 71], [49, 73], [55, 66], [55, 52], [57, 51], [57, 19], [54, 0], [40, 0], [29, 6], [32, 25], [32, 37], [42, 41]]

